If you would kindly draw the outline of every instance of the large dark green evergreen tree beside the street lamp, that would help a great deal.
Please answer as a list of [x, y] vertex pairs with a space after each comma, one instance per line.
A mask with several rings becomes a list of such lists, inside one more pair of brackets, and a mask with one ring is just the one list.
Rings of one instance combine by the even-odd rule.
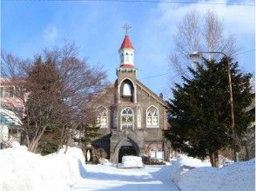
[[[168, 121], [171, 128], [165, 138], [172, 148], [192, 157], [210, 157], [212, 166], [218, 166], [218, 152], [232, 145], [229, 85], [226, 71], [227, 58], [219, 63], [204, 60], [197, 69], [189, 68], [192, 78], [183, 77], [183, 84], [172, 89], [173, 99], [168, 102]], [[238, 138], [253, 122], [246, 108], [253, 99], [250, 78], [231, 63], [235, 131]]]

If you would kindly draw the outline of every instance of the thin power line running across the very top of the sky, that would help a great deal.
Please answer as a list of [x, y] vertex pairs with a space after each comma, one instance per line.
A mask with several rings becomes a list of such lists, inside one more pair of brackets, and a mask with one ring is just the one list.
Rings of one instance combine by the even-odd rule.
[[[18, 0], [13, 0], [18, 1]], [[253, 3], [214, 3], [214, 2], [182, 2], [182, 1], [168, 1], [168, 0], [24, 0], [24, 1], [40, 1], [40, 2], [52, 2], [52, 1], [71, 1], [71, 2], [114, 2], [114, 3], [183, 3], [183, 4], [212, 4], [212, 5], [233, 5], [233, 6], [248, 6], [254, 7]]]

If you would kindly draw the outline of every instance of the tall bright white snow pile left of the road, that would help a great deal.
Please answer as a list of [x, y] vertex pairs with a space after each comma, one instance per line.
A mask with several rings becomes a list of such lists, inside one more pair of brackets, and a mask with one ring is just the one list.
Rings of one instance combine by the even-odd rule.
[[57, 154], [37, 155], [24, 147], [0, 150], [0, 190], [68, 190], [85, 175], [84, 155], [79, 148]]

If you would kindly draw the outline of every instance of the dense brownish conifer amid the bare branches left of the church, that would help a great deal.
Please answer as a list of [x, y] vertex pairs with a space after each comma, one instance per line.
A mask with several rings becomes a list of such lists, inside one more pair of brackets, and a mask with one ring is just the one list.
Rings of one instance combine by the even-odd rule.
[[43, 61], [41, 56], [37, 57], [28, 73], [24, 88], [28, 92], [24, 117], [24, 124], [29, 127], [28, 148], [31, 152], [36, 152], [45, 130], [52, 131], [51, 129], [57, 124], [60, 111], [64, 108], [61, 96], [63, 84], [60, 82], [51, 57], [48, 57], [46, 61]]

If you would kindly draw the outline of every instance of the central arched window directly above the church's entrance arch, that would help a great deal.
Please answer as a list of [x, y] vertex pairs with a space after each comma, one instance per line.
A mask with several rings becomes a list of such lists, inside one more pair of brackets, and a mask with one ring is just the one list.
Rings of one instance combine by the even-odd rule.
[[125, 108], [121, 111], [121, 129], [133, 128], [133, 111], [130, 108]]

